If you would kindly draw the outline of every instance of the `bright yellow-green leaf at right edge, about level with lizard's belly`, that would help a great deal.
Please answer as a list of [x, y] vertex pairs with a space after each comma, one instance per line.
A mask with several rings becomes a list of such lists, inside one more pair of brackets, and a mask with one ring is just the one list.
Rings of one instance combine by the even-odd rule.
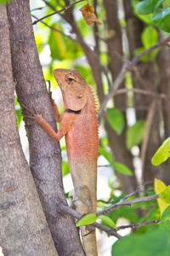
[[154, 166], [159, 166], [162, 162], [165, 162], [170, 157], [170, 137], [162, 143], [161, 147], [157, 149], [156, 154], [151, 159], [151, 163]]

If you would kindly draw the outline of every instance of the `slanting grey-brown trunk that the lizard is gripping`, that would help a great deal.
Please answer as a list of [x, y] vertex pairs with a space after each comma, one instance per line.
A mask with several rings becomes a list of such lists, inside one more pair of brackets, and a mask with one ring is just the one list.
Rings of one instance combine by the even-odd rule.
[[[37, 55], [29, 1], [18, 0], [8, 5], [8, 20], [18, 100], [28, 108], [32, 109], [34, 105], [39, 112], [42, 110], [43, 118], [57, 131]], [[25, 110], [23, 112], [27, 113]], [[66, 204], [59, 143], [48, 137], [40, 125], [26, 125], [26, 132], [29, 139], [31, 172], [57, 251], [59, 255], [84, 255], [73, 219], [68, 214], [56, 212], [56, 204]]]

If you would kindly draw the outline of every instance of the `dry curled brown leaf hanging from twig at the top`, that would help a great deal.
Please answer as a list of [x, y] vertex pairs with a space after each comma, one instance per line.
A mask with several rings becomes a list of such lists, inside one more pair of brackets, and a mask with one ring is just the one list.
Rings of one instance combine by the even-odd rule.
[[82, 16], [84, 17], [84, 20], [88, 24], [88, 26], [93, 26], [94, 22], [96, 22], [99, 26], [102, 25], [102, 23], [97, 20], [96, 15], [94, 15], [94, 6], [90, 6], [89, 4], [86, 4], [82, 6], [81, 9], [79, 9], [82, 12]]

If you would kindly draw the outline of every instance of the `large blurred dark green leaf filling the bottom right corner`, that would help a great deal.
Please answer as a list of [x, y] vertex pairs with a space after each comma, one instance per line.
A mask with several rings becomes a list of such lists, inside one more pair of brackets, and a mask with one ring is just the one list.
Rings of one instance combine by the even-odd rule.
[[162, 230], [144, 235], [128, 236], [116, 241], [111, 249], [112, 256], [168, 256], [170, 250], [169, 235]]

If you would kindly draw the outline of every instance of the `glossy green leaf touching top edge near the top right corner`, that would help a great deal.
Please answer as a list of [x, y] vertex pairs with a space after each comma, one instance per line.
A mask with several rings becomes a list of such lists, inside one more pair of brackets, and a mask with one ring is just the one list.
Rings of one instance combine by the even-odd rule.
[[139, 13], [139, 15], [149, 15], [160, 9], [160, 6], [164, 1], [165, 0], [144, 0], [137, 3], [135, 6], [136, 11]]

